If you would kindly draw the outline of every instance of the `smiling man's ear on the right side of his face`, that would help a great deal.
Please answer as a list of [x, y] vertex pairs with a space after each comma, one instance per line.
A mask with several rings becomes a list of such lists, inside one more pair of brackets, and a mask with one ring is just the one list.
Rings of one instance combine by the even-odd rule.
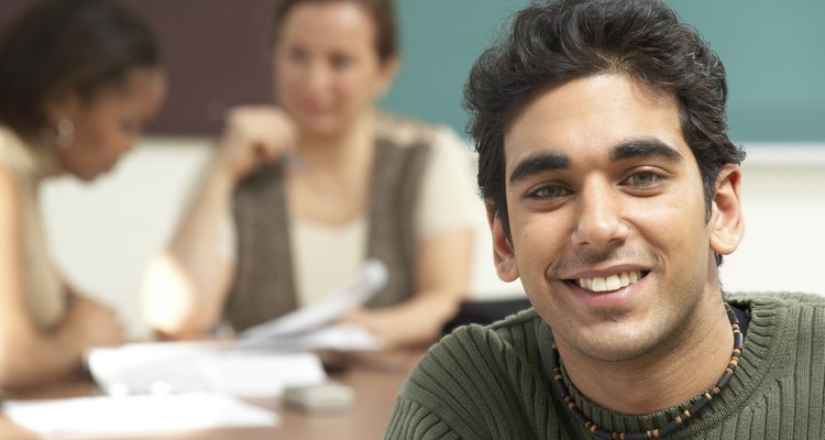
[[741, 169], [738, 165], [722, 167], [711, 202], [711, 249], [719, 255], [728, 255], [739, 246], [745, 233], [745, 218], [739, 199]]

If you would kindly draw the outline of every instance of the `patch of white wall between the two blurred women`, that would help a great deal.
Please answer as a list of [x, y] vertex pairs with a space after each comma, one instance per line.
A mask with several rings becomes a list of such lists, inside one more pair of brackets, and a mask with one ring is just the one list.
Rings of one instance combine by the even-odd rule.
[[170, 238], [207, 143], [145, 141], [110, 175], [61, 177], [41, 196], [56, 263], [80, 292], [114, 306], [135, 338], [148, 336], [138, 309], [144, 265]]

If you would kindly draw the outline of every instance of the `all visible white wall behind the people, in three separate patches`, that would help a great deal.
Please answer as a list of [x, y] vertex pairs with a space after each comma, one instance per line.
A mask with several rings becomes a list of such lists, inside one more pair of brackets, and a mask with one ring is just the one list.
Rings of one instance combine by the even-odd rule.
[[[204, 139], [154, 139], [92, 185], [70, 178], [43, 193], [46, 229], [57, 264], [82, 292], [114, 306], [130, 333], [147, 336], [138, 293], [147, 258], [172, 234], [210, 153]], [[743, 183], [747, 232], [726, 258], [728, 290], [804, 290], [825, 295], [817, 271], [825, 250], [825, 146], [749, 148]], [[473, 292], [522, 295], [498, 280], [481, 202]]]

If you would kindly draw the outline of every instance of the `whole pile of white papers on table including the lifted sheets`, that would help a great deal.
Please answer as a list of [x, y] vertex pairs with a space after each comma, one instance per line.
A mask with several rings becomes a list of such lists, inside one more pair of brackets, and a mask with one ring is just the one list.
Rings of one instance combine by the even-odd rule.
[[351, 283], [315, 306], [248, 329], [222, 342], [131, 343], [94, 349], [87, 364], [109, 395], [217, 392], [277, 397], [287, 386], [326, 380], [315, 350], [375, 350], [375, 337], [355, 326], [334, 324], [380, 290], [387, 271], [367, 261]]

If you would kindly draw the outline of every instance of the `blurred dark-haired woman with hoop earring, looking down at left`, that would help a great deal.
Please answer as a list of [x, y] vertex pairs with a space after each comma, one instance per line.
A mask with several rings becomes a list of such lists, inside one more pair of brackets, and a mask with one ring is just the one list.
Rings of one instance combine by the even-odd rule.
[[54, 266], [37, 194], [110, 170], [165, 92], [157, 38], [113, 1], [42, 1], [0, 33], [0, 387], [66, 377], [123, 340], [113, 310]]

